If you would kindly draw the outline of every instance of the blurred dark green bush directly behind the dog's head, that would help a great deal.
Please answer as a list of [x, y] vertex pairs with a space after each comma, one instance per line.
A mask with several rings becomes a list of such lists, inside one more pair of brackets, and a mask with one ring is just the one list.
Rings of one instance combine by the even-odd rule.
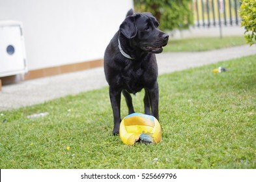
[[188, 29], [193, 24], [192, 0], [134, 0], [136, 12], [151, 12], [160, 29]]

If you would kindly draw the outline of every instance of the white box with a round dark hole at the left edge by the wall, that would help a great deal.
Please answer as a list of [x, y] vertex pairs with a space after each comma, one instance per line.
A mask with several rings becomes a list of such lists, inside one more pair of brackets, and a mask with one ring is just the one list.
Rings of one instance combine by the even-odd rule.
[[27, 72], [20, 21], [0, 21], [0, 77]]

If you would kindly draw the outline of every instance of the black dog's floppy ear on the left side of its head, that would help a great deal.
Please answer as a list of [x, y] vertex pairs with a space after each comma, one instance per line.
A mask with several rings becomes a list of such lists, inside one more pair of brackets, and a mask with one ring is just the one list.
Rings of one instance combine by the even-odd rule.
[[122, 24], [120, 25], [119, 29], [126, 38], [128, 39], [134, 38], [137, 34], [135, 17], [134, 16], [126, 17], [126, 19], [122, 21]]

